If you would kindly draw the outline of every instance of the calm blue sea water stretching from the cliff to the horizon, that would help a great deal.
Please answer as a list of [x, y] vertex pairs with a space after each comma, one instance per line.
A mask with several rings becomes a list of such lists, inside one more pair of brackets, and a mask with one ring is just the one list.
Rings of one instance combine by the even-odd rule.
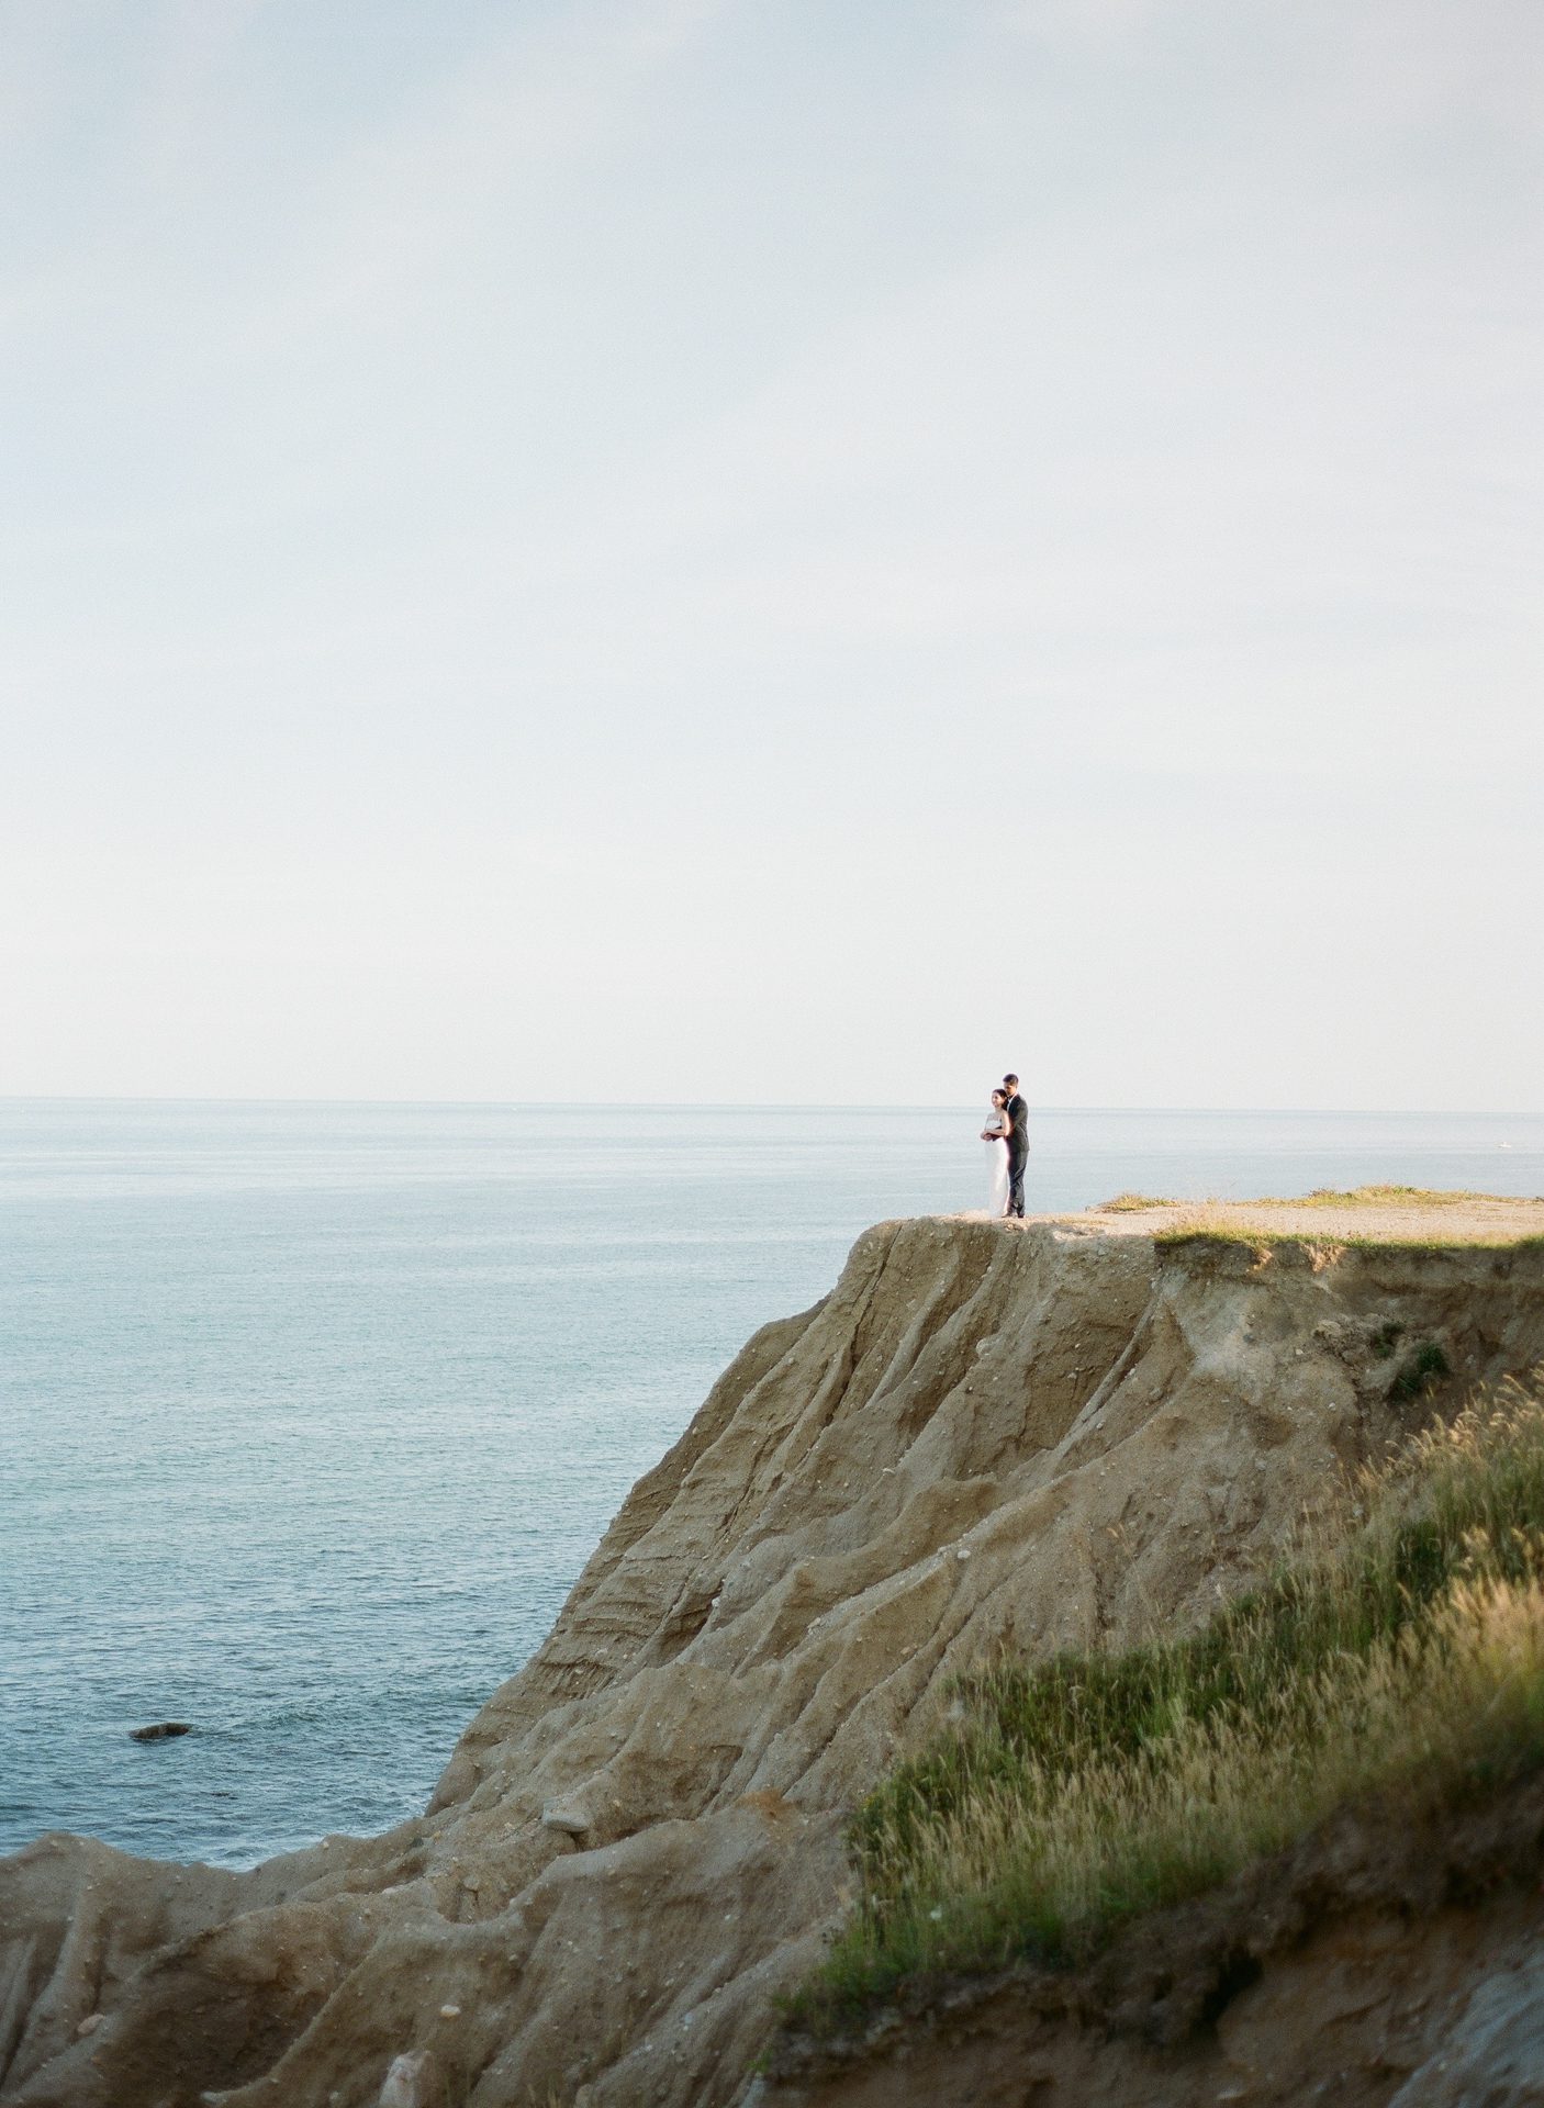
[[[631, 1482], [979, 1109], [0, 1102], [0, 1851], [426, 1800]], [[1040, 1113], [1029, 1193], [1544, 1193], [1544, 1119]], [[129, 1729], [196, 1733], [141, 1745]]]

